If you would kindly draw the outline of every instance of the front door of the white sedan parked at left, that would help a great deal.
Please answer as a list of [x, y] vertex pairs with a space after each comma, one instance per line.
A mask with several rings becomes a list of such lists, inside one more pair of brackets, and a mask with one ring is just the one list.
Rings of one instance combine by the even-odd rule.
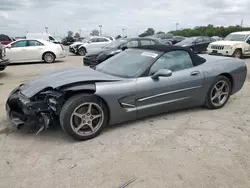
[[11, 62], [26, 61], [27, 56], [27, 40], [21, 40], [11, 43], [6, 47], [6, 56]]

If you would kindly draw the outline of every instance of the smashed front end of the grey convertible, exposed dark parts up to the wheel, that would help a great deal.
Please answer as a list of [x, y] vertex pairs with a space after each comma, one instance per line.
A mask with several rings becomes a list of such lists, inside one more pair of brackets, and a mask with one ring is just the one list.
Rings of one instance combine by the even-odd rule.
[[58, 120], [64, 93], [47, 88], [28, 98], [22, 94], [23, 87], [25, 85], [15, 88], [6, 102], [7, 116], [13, 127], [36, 128], [36, 134], [49, 129], [50, 125]]

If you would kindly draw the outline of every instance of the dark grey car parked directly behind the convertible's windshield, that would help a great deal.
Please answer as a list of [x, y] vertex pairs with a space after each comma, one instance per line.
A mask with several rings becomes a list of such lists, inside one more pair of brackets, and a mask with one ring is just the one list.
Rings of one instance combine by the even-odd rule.
[[122, 38], [118, 39], [100, 50], [87, 53], [83, 58], [83, 64], [85, 66], [94, 67], [106, 59], [124, 51], [127, 48], [136, 48], [146, 45], [160, 44], [160, 39], [146, 38], [146, 37], [135, 37], [135, 38]]

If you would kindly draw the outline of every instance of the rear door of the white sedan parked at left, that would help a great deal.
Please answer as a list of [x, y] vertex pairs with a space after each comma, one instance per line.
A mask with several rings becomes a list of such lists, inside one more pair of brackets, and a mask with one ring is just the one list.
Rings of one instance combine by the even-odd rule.
[[39, 61], [42, 60], [42, 55], [45, 50], [44, 44], [37, 40], [28, 40], [27, 41], [27, 61]]

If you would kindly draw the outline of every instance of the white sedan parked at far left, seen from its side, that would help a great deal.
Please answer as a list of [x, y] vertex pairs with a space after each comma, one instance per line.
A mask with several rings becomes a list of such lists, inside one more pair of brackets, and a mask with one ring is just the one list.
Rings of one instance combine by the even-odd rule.
[[63, 45], [39, 39], [17, 40], [8, 44], [6, 56], [11, 63], [37, 61], [53, 63], [66, 57]]

